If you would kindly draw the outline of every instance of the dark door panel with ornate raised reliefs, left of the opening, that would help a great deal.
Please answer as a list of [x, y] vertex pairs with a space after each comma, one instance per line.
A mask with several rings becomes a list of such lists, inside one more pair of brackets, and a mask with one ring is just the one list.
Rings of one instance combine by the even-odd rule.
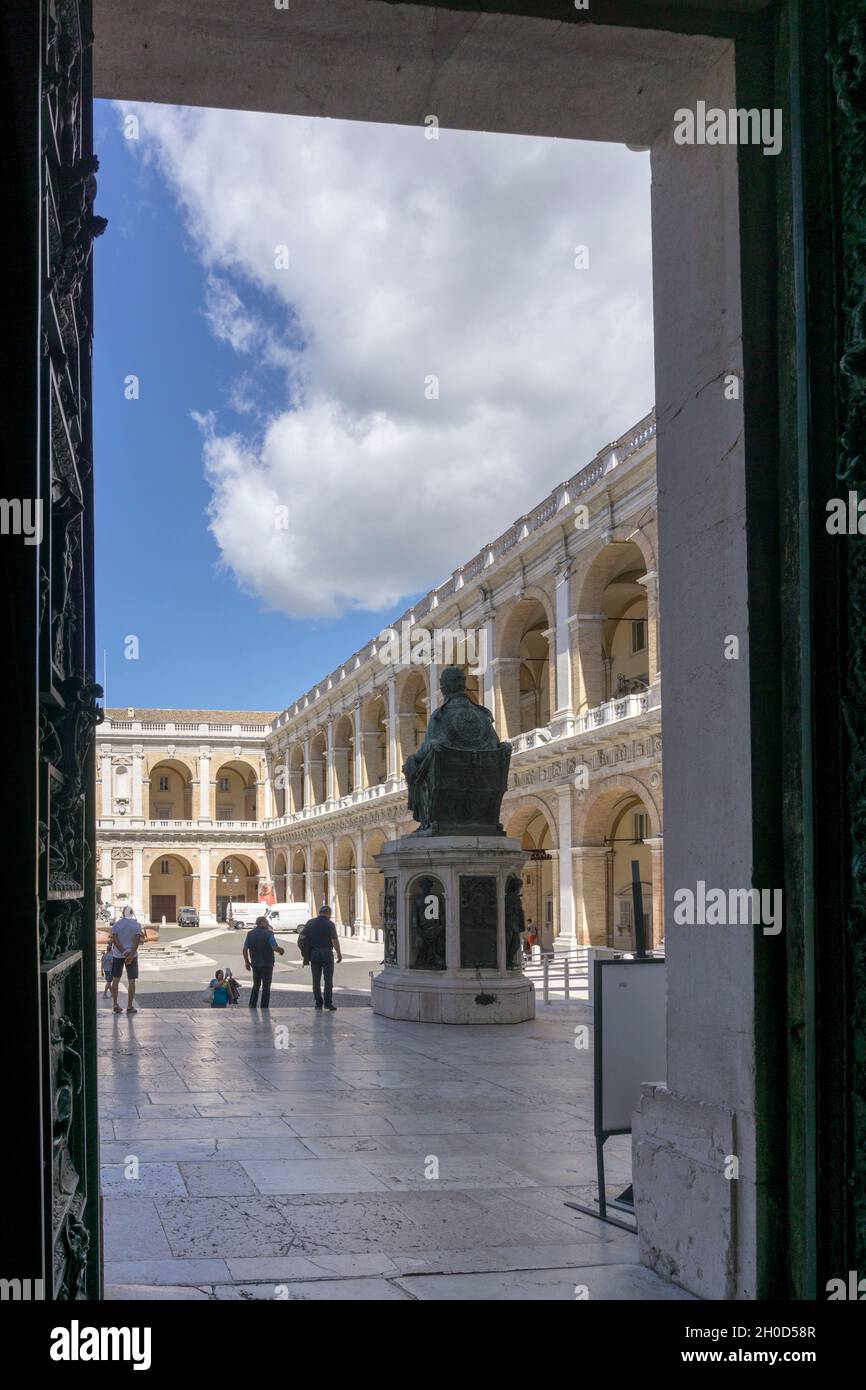
[[40, 0], [38, 901], [47, 1298], [99, 1297], [89, 0]]

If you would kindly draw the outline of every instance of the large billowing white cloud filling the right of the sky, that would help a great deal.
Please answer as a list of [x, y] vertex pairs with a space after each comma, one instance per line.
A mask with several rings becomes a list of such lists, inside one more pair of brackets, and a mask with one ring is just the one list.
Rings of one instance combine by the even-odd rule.
[[[211, 530], [268, 606], [396, 607], [651, 404], [645, 156], [133, 110], [209, 270], [211, 329], [245, 360], [236, 399], [256, 361], [285, 370], [261, 436], [203, 421]], [[574, 268], [581, 243], [589, 270]], [[245, 302], [261, 291], [268, 322]]]

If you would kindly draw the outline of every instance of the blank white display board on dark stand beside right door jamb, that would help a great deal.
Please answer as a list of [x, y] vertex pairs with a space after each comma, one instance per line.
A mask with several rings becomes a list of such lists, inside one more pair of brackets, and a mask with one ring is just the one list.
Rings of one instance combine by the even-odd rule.
[[599, 960], [596, 969], [596, 1134], [627, 1133], [641, 1084], [667, 1076], [667, 970], [663, 960]]

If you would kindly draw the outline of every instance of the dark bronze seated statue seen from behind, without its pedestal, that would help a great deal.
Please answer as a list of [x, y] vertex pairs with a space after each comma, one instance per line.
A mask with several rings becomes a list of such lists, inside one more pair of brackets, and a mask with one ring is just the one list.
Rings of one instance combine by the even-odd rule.
[[466, 676], [446, 666], [442, 705], [421, 746], [406, 759], [409, 809], [416, 835], [503, 835], [499, 823], [509, 784], [512, 745], [500, 742], [493, 716], [466, 694]]

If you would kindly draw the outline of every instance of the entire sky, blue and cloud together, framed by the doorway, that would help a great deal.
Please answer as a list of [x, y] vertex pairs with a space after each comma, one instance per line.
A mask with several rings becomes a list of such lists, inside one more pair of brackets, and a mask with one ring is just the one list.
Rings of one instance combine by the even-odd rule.
[[95, 145], [110, 705], [282, 709], [652, 404], [646, 156], [104, 101]]

